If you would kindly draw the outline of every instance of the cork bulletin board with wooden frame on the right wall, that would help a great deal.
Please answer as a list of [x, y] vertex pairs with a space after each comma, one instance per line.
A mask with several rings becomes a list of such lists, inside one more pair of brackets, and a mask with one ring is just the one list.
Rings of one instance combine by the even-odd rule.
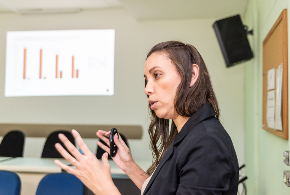
[[[283, 65], [281, 65], [283, 63]], [[278, 74], [279, 65], [283, 66], [283, 72]], [[270, 71], [269, 71], [270, 70]], [[275, 70], [275, 71], [274, 71]], [[284, 9], [272, 29], [263, 41], [263, 103], [262, 103], [262, 128], [283, 139], [288, 139], [288, 39], [287, 39], [287, 9]], [[269, 76], [270, 75], [270, 76]], [[272, 75], [272, 76], [271, 76]], [[274, 76], [275, 75], [275, 76]], [[282, 75], [277, 76], [277, 75]], [[270, 79], [273, 78], [274, 79]], [[281, 80], [281, 85], [277, 85]], [[270, 81], [270, 82], [269, 82]], [[277, 82], [278, 81], [278, 82]], [[275, 84], [274, 84], [275, 82]], [[269, 85], [270, 83], [270, 85]], [[270, 88], [269, 86], [274, 86]], [[274, 91], [273, 91], [274, 90]], [[278, 92], [281, 93], [278, 93]], [[274, 95], [275, 94], [275, 95]], [[280, 106], [277, 97], [281, 96], [281, 119], [282, 130], [275, 129], [276, 115], [279, 113]], [[277, 96], [278, 95], [278, 96]], [[271, 98], [274, 97], [274, 98]], [[274, 101], [273, 101], [274, 99]], [[279, 98], [280, 99], [280, 98]], [[277, 102], [278, 100], [278, 102]], [[268, 103], [268, 107], [267, 107]], [[273, 106], [274, 105], [274, 106]], [[276, 108], [277, 107], [277, 108]], [[268, 109], [268, 111], [267, 111]], [[273, 115], [273, 112], [275, 116]], [[267, 115], [268, 114], [268, 115]], [[273, 117], [274, 116], [274, 117]], [[279, 117], [279, 115], [277, 115]], [[268, 117], [268, 118], [267, 118]], [[268, 120], [267, 120], [268, 119]], [[274, 119], [272, 123], [271, 120]], [[268, 123], [269, 122], [269, 123]], [[271, 126], [271, 124], [275, 124]], [[280, 123], [281, 124], [281, 123]], [[272, 127], [272, 128], [269, 128]]]

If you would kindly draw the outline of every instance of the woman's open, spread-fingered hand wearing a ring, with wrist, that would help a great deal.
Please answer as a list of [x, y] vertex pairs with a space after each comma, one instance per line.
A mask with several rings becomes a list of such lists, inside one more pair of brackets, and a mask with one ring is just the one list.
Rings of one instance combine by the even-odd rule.
[[62, 169], [77, 176], [95, 194], [120, 194], [111, 177], [111, 167], [108, 161], [108, 154], [104, 153], [101, 163], [88, 149], [77, 131], [72, 130], [72, 135], [75, 137], [80, 149], [83, 151], [83, 155], [63, 134], [59, 134], [59, 139], [65, 144], [67, 149], [76, 157], [76, 159], [72, 157], [59, 143], [55, 144], [55, 147], [69, 163], [75, 166], [75, 168], [67, 166], [59, 160], [55, 160], [54, 162]]

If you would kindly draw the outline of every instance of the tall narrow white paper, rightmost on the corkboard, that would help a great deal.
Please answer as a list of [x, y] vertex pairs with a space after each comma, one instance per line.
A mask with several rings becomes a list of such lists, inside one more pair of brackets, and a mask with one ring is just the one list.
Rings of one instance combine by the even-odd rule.
[[282, 131], [282, 78], [283, 78], [283, 63], [281, 63], [276, 71], [276, 105], [275, 105], [275, 129]]

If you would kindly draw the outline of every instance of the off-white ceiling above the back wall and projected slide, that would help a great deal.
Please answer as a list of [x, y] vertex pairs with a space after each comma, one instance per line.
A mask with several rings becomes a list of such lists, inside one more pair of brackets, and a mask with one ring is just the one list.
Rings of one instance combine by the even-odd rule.
[[124, 7], [137, 20], [222, 18], [244, 14], [248, 0], [0, 0], [0, 13], [71, 13]]

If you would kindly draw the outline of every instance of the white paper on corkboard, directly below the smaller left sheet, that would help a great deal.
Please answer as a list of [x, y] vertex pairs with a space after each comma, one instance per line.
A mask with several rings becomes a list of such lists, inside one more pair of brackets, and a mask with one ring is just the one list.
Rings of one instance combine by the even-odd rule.
[[267, 126], [275, 128], [275, 90], [267, 92]]

